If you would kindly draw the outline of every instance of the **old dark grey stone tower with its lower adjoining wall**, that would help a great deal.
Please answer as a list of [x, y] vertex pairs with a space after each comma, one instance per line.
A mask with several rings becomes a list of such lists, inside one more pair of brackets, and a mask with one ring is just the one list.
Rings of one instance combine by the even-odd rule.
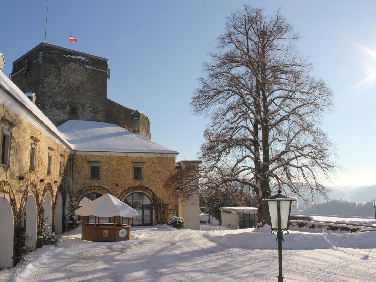
[[35, 93], [35, 103], [55, 126], [67, 120], [100, 121], [151, 139], [146, 115], [107, 98], [107, 61], [41, 43], [13, 62], [11, 79], [24, 93]]

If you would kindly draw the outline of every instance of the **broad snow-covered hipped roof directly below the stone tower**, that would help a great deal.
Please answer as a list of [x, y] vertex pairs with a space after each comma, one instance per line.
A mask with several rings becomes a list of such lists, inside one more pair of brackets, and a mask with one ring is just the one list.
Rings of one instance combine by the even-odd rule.
[[76, 151], [179, 154], [111, 123], [68, 120], [58, 130]]

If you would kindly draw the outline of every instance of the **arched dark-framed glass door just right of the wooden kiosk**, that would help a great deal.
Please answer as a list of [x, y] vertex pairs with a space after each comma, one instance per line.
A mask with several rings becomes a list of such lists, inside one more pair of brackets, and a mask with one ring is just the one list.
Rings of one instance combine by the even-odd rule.
[[132, 225], [153, 225], [153, 203], [149, 196], [141, 192], [129, 194], [125, 200], [138, 212], [138, 216], [130, 218]]

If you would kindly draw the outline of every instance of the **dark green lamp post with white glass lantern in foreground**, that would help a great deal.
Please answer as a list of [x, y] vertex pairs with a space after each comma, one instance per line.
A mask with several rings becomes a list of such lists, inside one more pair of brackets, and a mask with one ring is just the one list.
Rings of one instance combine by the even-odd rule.
[[297, 201], [297, 198], [289, 198], [282, 195], [282, 190], [278, 189], [278, 194], [271, 196], [263, 201], [266, 201], [268, 206], [268, 213], [270, 219], [271, 233], [277, 231], [278, 240], [278, 282], [283, 282], [282, 276], [282, 234], [284, 231], [288, 234], [288, 226], [290, 225], [291, 203]]

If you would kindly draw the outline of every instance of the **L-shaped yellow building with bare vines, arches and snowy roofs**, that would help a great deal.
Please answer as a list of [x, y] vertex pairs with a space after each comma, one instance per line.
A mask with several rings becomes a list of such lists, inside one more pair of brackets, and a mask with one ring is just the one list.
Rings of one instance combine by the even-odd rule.
[[33, 97], [0, 71], [0, 268], [14, 265], [25, 237], [36, 248], [44, 218], [50, 232], [62, 233], [71, 197], [84, 205], [112, 194], [138, 211], [132, 225], [163, 224], [176, 214], [168, 182], [178, 152], [115, 124], [55, 127]]

